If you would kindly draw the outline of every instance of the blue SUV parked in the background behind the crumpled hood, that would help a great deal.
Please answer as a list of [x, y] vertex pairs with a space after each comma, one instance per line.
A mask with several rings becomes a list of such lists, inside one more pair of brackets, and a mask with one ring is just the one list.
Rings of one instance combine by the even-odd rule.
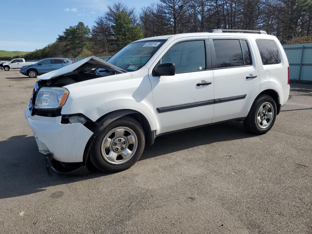
[[47, 72], [60, 69], [72, 63], [74, 63], [74, 61], [66, 58], [42, 59], [33, 65], [22, 66], [20, 73], [22, 73], [25, 76], [34, 78], [37, 77], [38, 75], [42, 75]]

